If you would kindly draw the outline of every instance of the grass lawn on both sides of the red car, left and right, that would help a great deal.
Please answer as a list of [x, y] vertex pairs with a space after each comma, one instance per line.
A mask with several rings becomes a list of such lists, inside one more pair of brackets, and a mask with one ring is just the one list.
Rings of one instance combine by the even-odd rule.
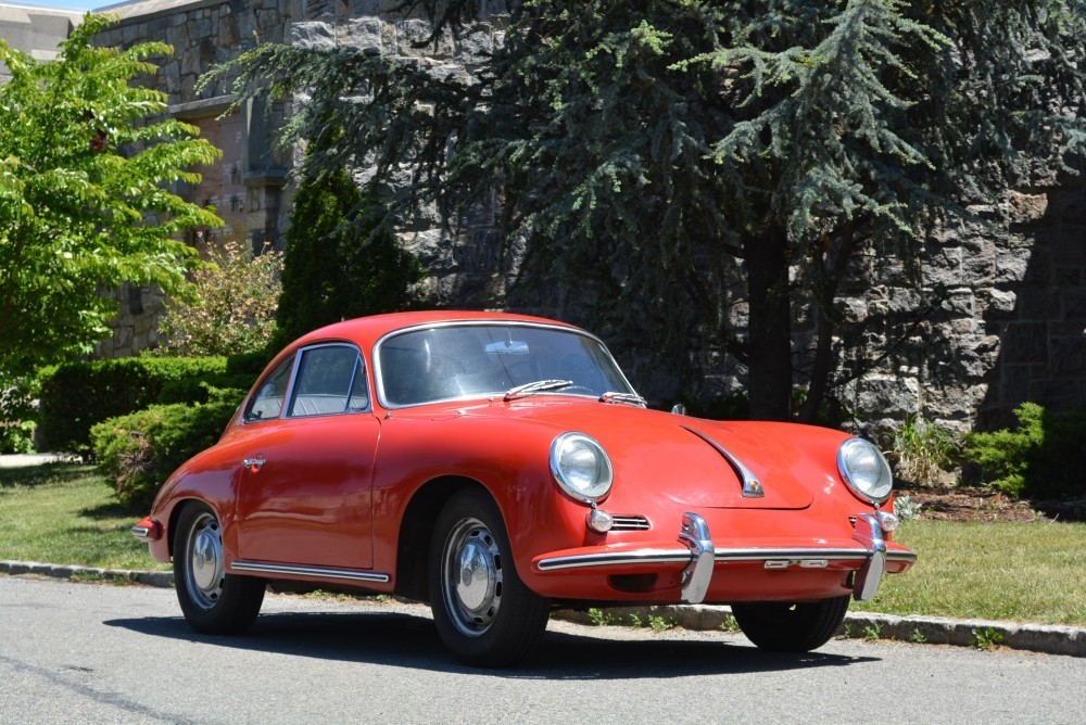
[[[93, 467], [0, 469], [0, 559], [105, 569], [168, 569], [128, 533]], [[1086, 524], [908, 521], [920, 555], [854, 610], [1086, 626]]]

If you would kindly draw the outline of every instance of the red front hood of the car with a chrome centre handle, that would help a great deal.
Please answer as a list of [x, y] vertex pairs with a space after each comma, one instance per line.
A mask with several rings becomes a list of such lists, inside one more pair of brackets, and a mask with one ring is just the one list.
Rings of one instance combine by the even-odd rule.
[[[816, 489], [838, 484], [836, 451], [847, 437], [808, 425], [711, 421], [595, 400], [536, 397], [465, 412], [546, 423], [556, 434], [586, 433], [610, 456], [616, 489], [640, 481], [655, 495], [703, 508], [807, 508]], [[740, 467], [729, 457], [758, 480], [761, 496], [743, 495]]]

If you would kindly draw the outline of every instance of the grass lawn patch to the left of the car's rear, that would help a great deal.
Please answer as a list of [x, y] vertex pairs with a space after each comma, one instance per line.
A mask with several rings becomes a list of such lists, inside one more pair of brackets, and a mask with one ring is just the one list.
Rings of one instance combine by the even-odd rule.
[[104, 569], [169, 569], [129, 533], [124, 510], [92, 466], [0, 469], [0, 559]]

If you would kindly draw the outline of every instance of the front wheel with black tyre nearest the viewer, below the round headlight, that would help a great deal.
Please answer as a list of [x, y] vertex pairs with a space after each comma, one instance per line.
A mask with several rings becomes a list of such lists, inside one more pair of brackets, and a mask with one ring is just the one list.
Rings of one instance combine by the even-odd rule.
[[525, 586], [489, 495], [465, 489], [445, 504], [429, 557], [430, 608], [462, 662], [501, 667], [528, 654], [546, 629], [551, 602]]

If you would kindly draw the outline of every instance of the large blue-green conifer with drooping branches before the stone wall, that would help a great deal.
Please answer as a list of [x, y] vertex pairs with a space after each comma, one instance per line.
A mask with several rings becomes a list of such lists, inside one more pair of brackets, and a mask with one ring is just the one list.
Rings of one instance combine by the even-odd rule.
[[[408, 167], [402, 214], [435, 202], [456, 219], [500, 190], [528, 279], [588, 290], [610, 329], [678, 352], [689, 379], [712, 364], [691, 344], [724, 348], [760, 418], [791, 415], [794, 379], [810, 384], [807, 420], [841, 383], [835, 301], [858, 252], [915, 275], [931, 225], [1026, 180], [1025, 161], [1071, 170], [1086, 140], [1075, 0], [510, 4], [473, 79], [272, 44], [230, 69], [243, 97], [305, 89], [288, 140], [337, 119], [342, 141], [313, 168]], [[402, 9], [430, 13], [437, 40], [482, 5]], [[736, 304], [745, 329], [730, 327]], [[805, 310], [817, 341], [794, 351]]]

